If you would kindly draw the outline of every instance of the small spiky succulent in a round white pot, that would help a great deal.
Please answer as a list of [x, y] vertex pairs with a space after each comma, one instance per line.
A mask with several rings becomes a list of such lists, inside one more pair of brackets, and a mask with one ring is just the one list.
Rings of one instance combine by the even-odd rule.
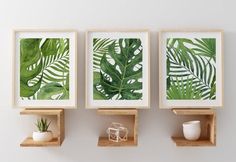
[[48, 123], [47, 119], [39, 119], [35, 123], [38, 128], [38, 131], [33, 132], [33, 140], [38, 142], [49, 142], [53, 138], [52, 131], [49, 131], [48, 128], [51, 122]]

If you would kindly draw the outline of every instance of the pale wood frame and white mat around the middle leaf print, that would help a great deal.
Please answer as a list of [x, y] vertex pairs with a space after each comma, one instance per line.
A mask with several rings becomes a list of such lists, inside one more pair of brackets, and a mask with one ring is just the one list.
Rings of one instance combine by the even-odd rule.
[[[142, 100], [93, 100], [93, 39], [139, 38], [143, 46], [143, 99]], [[149, 35], [148, 32], [88, 32], [87, 35], [87, 108], [149, 108]]]

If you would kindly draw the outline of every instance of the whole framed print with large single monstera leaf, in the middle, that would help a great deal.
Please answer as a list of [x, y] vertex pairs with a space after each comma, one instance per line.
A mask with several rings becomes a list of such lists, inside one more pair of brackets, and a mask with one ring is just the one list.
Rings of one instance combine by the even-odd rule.
[[87, 108], [149, 107], [149, 32], [88, 31]]

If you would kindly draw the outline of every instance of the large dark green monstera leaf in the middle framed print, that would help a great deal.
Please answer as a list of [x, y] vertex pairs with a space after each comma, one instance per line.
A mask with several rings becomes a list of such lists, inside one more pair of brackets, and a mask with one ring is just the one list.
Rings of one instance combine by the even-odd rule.
[[142, 54], [140, 39], [112, 42], [101, 58], [100, 71], [93, 74], [94, 99], [142, 99]]

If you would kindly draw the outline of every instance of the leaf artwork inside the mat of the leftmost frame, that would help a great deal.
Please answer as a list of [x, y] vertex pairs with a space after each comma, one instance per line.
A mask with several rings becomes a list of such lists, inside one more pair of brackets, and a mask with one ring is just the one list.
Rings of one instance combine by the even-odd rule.
[[69, 39], [20, 40], [20, 96], [28, 100], [69, 99]]

